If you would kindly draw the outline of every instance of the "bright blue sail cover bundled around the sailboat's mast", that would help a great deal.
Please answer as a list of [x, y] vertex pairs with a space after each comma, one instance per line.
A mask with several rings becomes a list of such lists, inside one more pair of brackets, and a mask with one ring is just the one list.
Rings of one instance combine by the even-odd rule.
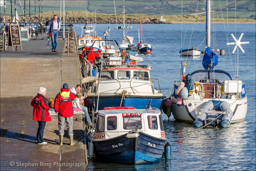
[[212, 70], [214, 66], [218, 65], [218, 58], [214, 52], [211, 52], [211, 47], [207, 47], [202, 61], [204, 69]]

